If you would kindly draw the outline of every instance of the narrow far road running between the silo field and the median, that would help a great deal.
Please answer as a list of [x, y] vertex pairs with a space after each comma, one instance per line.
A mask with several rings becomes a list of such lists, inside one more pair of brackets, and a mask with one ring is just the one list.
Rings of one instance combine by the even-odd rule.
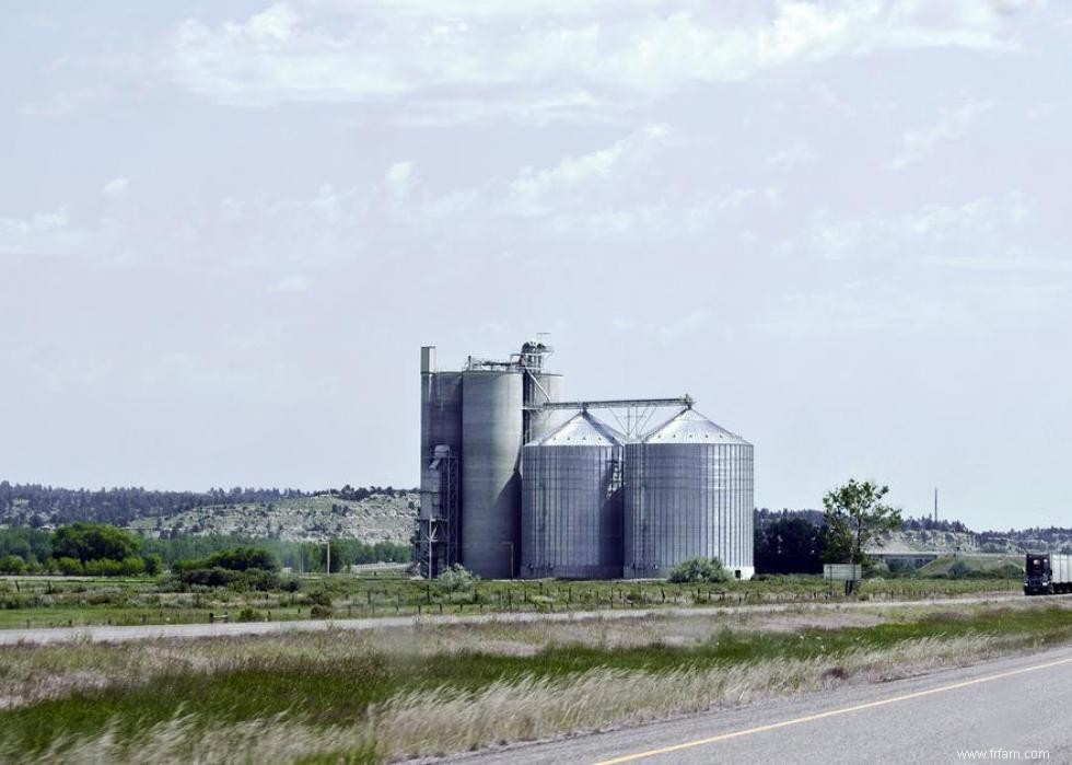
[[30, 629], [0, 629], [0, 646], [18, 644], [63, 642], [90, 640], [93, 642], [125, 642], [158, 638], [208, 638], [237, 635], [275, 635], [278, 633], [316, 631], [322, 629], [385, 629], [436, 624], [488, 624], [527, 622], [570, 622], [589, 619], [638, 618], [644, 616], [702, 617], [733, 613], [778, 613], [799, 608], [824, 611], [852, 611], [873, 607], [907, 607], [928, 603], [998, 603], [1022, 601], [1023, 595], [988, 595], [936, 601], [852, 601], [849, 603], [771, 603], [767, 605], [698, 606], [694, 608], [630, 608], [614, 611], [573, 611], [559, 613], [506, 612], [469, 615], [381, 616], [354, 619], [299, 619], [292, 622], [231, 622], [214, 624], [161, 624], [128, 627], [42, 627]]

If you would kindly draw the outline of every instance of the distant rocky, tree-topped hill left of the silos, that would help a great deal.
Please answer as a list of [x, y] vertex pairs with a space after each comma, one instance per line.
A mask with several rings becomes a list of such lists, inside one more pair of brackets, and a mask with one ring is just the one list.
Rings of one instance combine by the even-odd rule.
[[105, 521], [147, 536], [242, 534], [284, 541], [349, 537], [408, 543], [419, 507], [416, 489], [343, 486], [296, 489], [152, 491], [63, 489], [0, 483], [0, 524], [54, 526]]

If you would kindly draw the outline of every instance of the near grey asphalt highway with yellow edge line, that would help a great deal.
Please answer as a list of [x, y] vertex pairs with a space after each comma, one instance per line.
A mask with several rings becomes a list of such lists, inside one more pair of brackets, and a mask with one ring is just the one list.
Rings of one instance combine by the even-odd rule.
[[455, 757], [521, 763], [1072, 762], [1072, 647]]

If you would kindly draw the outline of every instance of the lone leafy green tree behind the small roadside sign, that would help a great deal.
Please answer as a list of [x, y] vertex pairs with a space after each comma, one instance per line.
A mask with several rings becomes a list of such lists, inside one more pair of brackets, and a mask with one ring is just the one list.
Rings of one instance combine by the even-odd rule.
[[900, 510], [883, 503], [888, 486], [850, 479], [823, 498], [824, 558], [827, 563], [866, 564], [866, 549], [882, 534], [901, 528]]

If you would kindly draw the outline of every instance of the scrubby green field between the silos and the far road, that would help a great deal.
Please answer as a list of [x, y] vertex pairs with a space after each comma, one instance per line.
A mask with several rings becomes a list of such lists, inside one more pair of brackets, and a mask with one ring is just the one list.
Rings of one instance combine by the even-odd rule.
[[[866, 580], [854, 599], [900, 600], [1017, 592], [1019, 579]], [[176, 591], [178, 590], [178, 591]], [[842, 600], [840, 584], [819, 577], [772, 577], [722, 584], [663, 581], [480, 581], [464, 592], [436, 582], [378, 576], [307, 576], [298, 592], [176, 588], [167, 579], [7, 578], [0, 580], [0, 628], [207, 623], [238, 618], [310, 618], [330, 603], [334, 618], [502, 611], [591, 611]], [[244, 613], [245, 612], [245, 613]]]

